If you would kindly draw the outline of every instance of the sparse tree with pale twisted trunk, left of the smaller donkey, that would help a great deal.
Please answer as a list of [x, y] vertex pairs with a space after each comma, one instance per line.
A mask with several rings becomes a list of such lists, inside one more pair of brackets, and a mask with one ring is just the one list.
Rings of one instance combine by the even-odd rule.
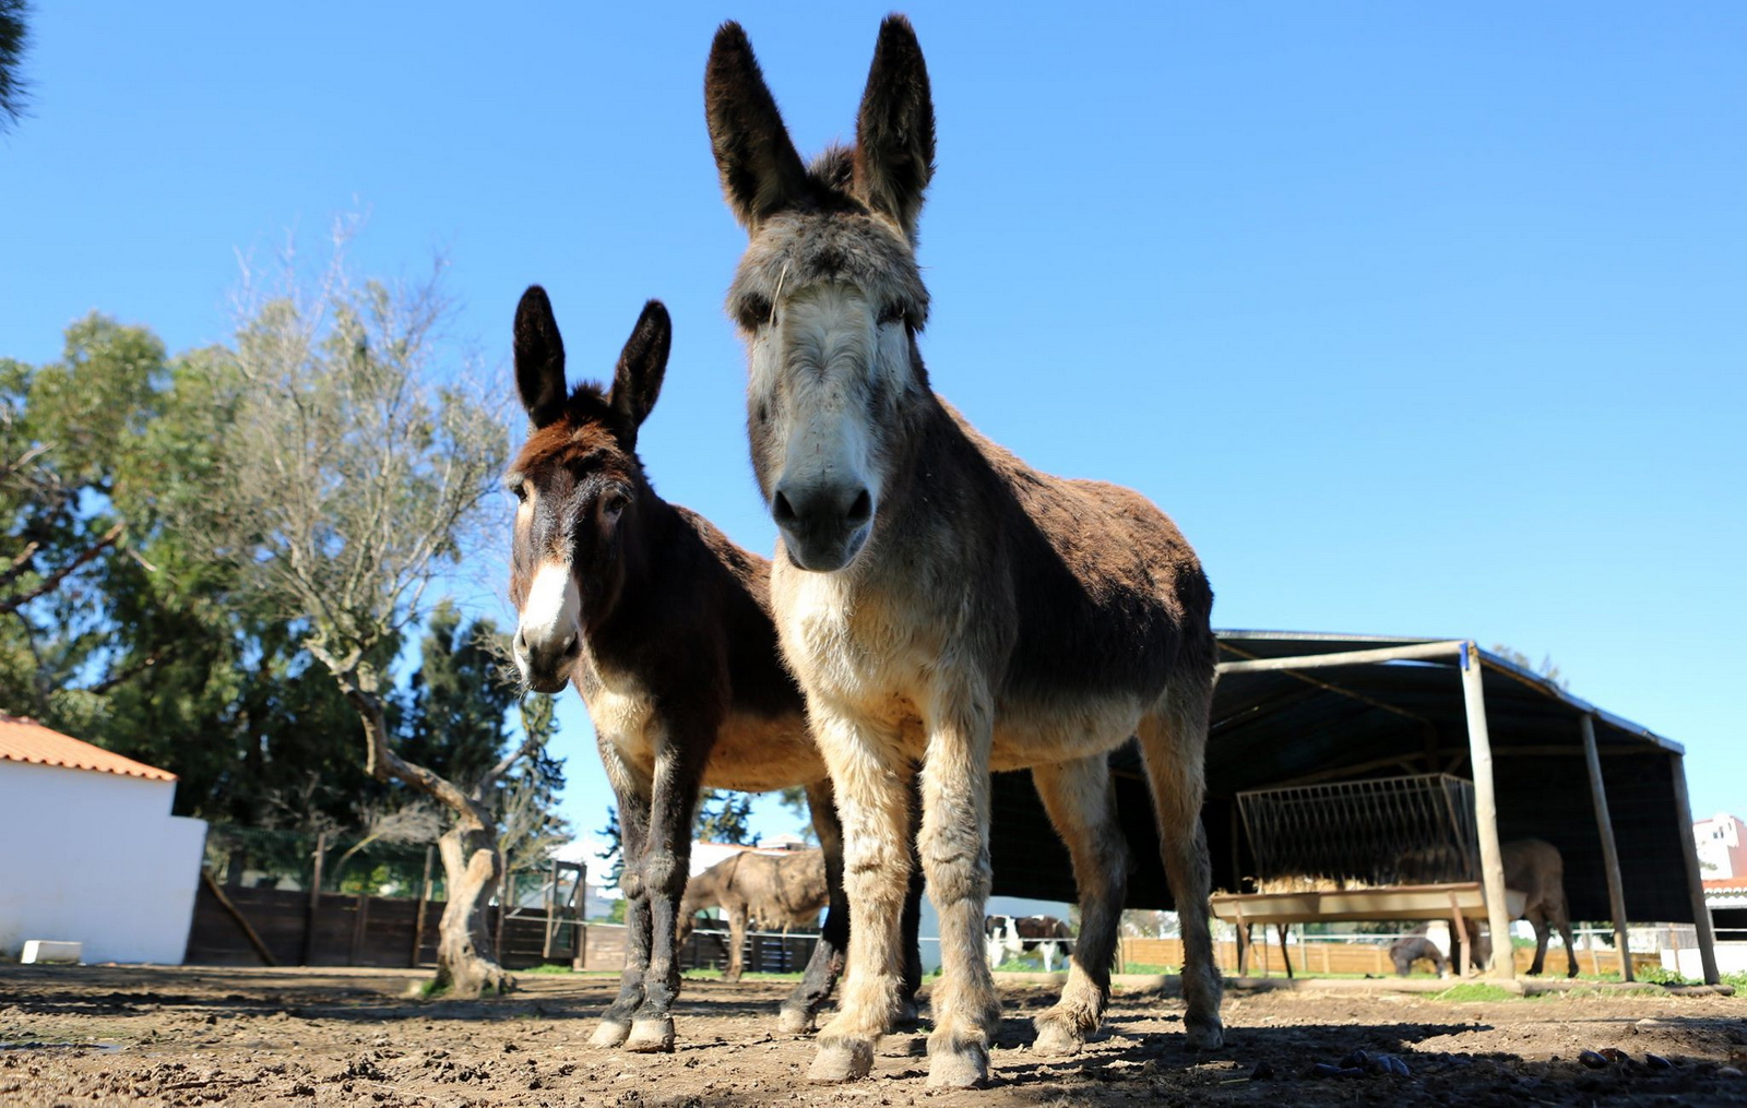
[[542, 736], [461, 786], [397, 751], [386, 701], [426, 594], [486, 542], [505, 421], [444, 337], [440, 266], [419, 281], [356, 281], [349, 234], [337, 225], [313, 278], [290, 253], [267, 292], [245, 273], [236, 419], [190, 526], [299, 627], [362, 720], [369, 772], [449, 811], [437, 984], [473, 996], [512, 986], [484, 919], [503, 867], [493, 797]]

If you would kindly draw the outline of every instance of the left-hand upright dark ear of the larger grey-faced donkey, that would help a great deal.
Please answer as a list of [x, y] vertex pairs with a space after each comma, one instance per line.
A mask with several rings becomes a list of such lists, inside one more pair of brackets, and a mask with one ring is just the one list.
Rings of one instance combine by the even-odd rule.
[[807, 192], [807, 168], [788, 138], [753, 44], [732, 19], [716, 30], [704, 70], [704, 115], [722, 192], [746, 231]]

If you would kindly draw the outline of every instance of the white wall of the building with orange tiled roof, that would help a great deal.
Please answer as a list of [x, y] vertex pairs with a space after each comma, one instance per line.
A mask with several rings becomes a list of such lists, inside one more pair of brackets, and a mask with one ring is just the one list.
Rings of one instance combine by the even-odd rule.
[[86, 961], [176, 965], [206, 823], [169, 814], [175, 781], [0, 762], [0, 951], [86, 944]]

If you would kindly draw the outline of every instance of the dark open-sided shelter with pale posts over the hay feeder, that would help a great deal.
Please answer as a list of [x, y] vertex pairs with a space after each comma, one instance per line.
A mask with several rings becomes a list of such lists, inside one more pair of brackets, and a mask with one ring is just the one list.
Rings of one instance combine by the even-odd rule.
[[[1686, 799], [1684, 751], [1471, 640], [1221, 631], [1202, 825], [1214, 888], [1253, 874], [1239, 792], [1396, 774], [1474, 783], [1481, 877], [1508, 933], [1499, 842], [1565, 858], [1574, 919], [1693, 923], [1717, 982]], [[1172, 907], [1134, 744], [1111, 755], [1130, 844], [1129, 907]], [[1074, 900], [1073, 870], [1024, 772], [996, 774], [994, 891]], [[1494, 972], [1513, 972], [1508, 958]]]

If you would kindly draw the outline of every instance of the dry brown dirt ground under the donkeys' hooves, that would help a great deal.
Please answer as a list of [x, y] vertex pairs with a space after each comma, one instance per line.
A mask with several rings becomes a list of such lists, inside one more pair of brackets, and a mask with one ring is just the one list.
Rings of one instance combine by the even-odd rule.
[[[1181, 1001], [1120, 994], [1073, 1059], [1029, 1050], [1053, 996], [1006, 987], [991, 1087], [929, 1092], [922, 1040], [870, 1080], [807, 1085], [807, 1040], [774, 1036], [781, 982], [688, 982], [673, 1056], [589, 1050], [613, 982], [522, 975], [487, 1003], [409, 1000], [391, 970], [0, 966], [0, 1106], [12, 1105], [1747, 1105], [1747, 1000], [1230, 994], [1226, 1049], [1195, 1056]], [[1590, 1070], [1581, 1050], [1630, 1061]], [[1410, 1077], [1312, 1078], [1354, 1049]], [[1674, 1063], [1651, 1070], [1646, 1054]], [[1249, 1080], [1260, 1063], [1272, 1078]]]

